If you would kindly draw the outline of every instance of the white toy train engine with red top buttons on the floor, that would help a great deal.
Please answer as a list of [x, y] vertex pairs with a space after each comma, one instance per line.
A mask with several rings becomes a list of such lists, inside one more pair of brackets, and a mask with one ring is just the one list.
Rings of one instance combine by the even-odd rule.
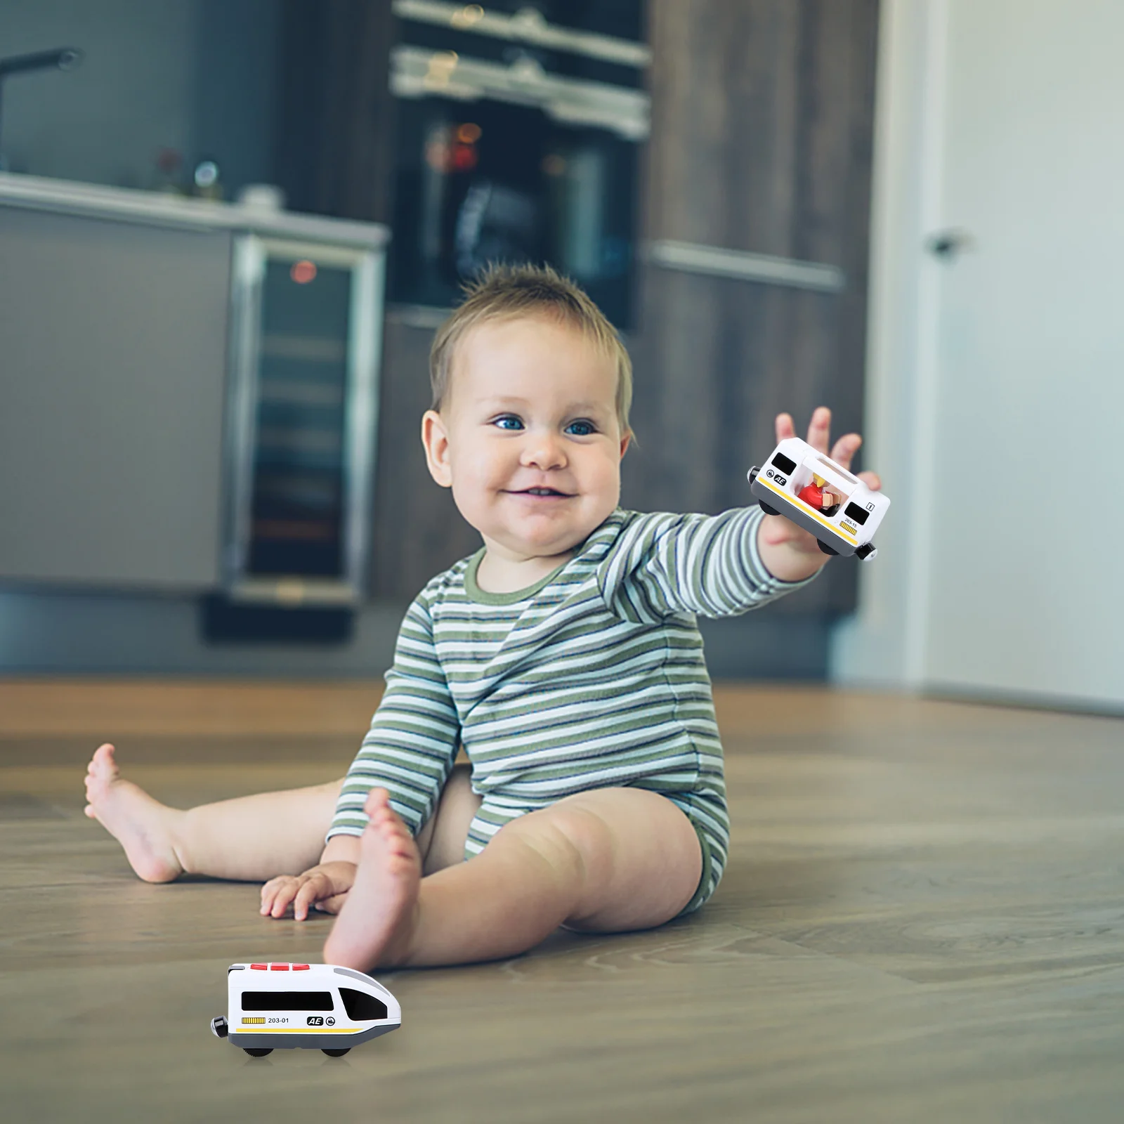
[[211, 1031], [246, 1053], [323, 1050], [341, 1058], [352, 1046], [402, 1025], [398, 1000], [378, 980], [334, 964], [232, 964], [227, 1018]]

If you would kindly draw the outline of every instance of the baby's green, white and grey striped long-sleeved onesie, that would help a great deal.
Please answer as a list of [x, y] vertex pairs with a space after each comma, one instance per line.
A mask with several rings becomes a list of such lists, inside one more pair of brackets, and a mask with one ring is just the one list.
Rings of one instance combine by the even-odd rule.
[[805, 584], [765, 569], [761, 518], [758, 507], [617, 509], [527, 589], [480, 589], [483, 549], [438, 574], [406, 613], [328, 837], [362, 834], [375, 786], [417, 834], [463, 745], [483, 801], [465, 859], [506, 823], [573, 792], [651, 789], [698, 833], [703, 878], [683, 912], [697, 909], [722, 877], [729, 818], [696, 614], [733, 616]]

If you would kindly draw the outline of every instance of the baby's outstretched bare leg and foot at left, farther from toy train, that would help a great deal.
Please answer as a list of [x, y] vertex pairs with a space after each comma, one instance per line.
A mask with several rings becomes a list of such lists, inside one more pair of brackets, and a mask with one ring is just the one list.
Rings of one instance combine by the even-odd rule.
[[147, 882], [182, 873], [263, 881], [314, 865], [335, 812], [341, 781], [263, 792], [181, 812], [121, 778], [102, 745], [85, 778], [85, 814], [121, 844]]

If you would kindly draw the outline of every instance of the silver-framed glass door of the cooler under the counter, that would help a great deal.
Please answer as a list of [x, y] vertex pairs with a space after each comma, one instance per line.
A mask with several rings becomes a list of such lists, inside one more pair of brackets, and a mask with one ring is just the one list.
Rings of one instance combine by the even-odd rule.
[[239, 237], [232, 600], [348, 605], [366, 573], [382, 255]]

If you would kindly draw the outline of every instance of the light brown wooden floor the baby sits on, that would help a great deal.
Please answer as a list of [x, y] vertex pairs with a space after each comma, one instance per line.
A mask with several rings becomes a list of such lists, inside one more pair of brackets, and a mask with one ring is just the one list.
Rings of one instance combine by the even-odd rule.
[[344, 1059], [208, 1032], [226, 966], [317, 960], [256, 887], [136, 880], [103, 738], [187, 805], [339, 774], [378, 688], [0, 683], [0, 1096], [19, 1121], [1124, 1118], [1124, 722], [723, 689], [729, 868], [696, 917], [382, 976]]

